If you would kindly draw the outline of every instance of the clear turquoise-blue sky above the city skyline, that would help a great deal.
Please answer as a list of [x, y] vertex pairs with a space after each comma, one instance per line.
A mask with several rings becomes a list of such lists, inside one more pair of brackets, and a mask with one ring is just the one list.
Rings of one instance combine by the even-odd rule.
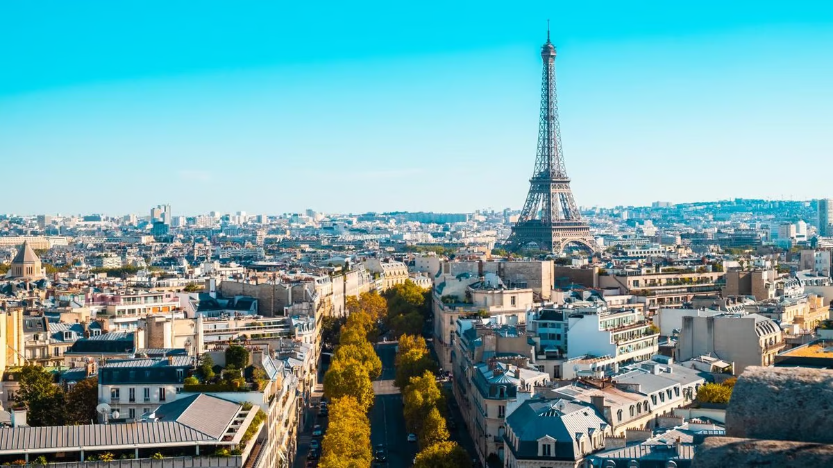
[[0, 212], [519, 208], [547, 18], [578, 204], [833, 196], [833, 2], [516, 3], [2, 2]]

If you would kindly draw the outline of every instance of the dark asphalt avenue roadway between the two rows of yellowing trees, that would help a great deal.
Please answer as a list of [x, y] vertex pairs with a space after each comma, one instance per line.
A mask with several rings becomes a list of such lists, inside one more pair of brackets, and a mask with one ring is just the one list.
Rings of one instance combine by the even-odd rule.
[[396, 376], [394, 361], [397, 356], [396, 343], [378, 343], [379, 359], [382, 360], [382, 376], [373, 382], [376, 401], [370, 411], [371, 442], [387, 450], [387, 464], [381, 466], [412, 466], [416, 456], [416, 443], [407, 441], [405, 416], [402, 414], [402, 394], [393, 385]]

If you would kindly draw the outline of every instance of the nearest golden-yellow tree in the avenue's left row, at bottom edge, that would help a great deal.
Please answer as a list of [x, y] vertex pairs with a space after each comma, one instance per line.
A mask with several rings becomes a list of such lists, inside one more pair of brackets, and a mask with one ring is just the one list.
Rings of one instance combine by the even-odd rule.
[[322, 468], [370, 466], [370, 421], [352, 396], [333, 399], [322, 451]]

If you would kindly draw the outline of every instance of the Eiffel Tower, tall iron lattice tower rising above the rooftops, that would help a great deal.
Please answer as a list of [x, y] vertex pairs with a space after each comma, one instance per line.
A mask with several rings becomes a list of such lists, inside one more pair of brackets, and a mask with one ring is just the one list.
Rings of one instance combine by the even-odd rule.
[[572, 243], [597, 251], [599, 247], [590, 233], [590, 227], [582, 221], [573, 200], [570, 177], [567, 177], [564, 167], [556, 98], [556, 47], [550, 42], [549, 28], [546, 30], [546, 44], [541, 47], [541, 58], [544, 70], [535, 171], [529, 180], [529, 194], [523, 211], [512, 227], [506, 247], [510, 251], [519, 251], [536, 246], [543, 251], [559, 253]]

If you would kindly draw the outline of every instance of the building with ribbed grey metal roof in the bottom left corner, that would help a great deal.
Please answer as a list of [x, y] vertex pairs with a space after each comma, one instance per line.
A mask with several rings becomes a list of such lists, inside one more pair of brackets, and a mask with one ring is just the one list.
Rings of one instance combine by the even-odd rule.
[[[109, 452], [115, 460], [108, 465], [118, 468], [132, 464], [150, 466], [156, 462], [152, 459], [157, 454], [172, 466], [279, 466], [258, 457], [259, 451], [253, 450], [257, 439], [245, 440], [257, 411], [257, 406], [247, 409], [216, 396], [192, 395], [154, 406], [141, 424], [0, 427], [0, 461], [23, 465], [43, 456], [50, 464], [92, 467], [102, 463], [88, 461], [92, 455]], [[239, 455], [215, 455], [238, 447], [243, 447]]]

